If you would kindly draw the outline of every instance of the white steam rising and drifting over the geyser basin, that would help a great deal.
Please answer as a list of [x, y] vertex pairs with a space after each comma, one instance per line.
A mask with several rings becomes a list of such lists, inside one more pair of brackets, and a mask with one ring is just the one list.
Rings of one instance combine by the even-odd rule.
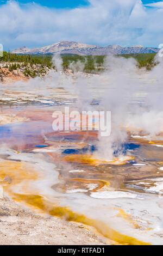
[[[122, 144], [130, 131], [143, 131], [149, 138], [163, 131], [162, 111], [162, 65], [163, 60], [155, 57], [151, 71], [139, 69], [133, 58], [108, 56], [100, 74], [85, 74], [84, 63], [71, 63], [71, 72], [64, 72], [60, 56], [53, 57], [53, 70], [42, 78], [17, 82], [14, 89], [23, 88], [44, 97], [53, 98], [54, 88], [65, 88], [77, 97], [79, 111], [111, 111], [111, 135], [101, 137], [99, 132], [97, 152], [99, 158], [111, 160], [114, 152], [122, 154]], [[3, 90], [3, 89], [2, 89]], [[99, 105], [91, 105], [93, 100]]]

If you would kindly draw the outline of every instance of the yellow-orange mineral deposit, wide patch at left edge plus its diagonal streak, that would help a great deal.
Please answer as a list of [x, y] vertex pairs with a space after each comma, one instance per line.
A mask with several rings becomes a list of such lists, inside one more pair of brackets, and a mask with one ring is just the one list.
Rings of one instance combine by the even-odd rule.
[[[15, 201], [29, 205], [46, 214], [63, 218], [66, 221], [74, 221], [89, 225], [95, 228], [103, 236], [115, 241], [114, 243], [119, 243], [121, 245], [149, 245], [147, 242], [119, 233], [108, 227], [102, 221], [92, 220], [85, 215], [73, 212], [69, 208], [54, 205], [54, 203], [50, 202], [43, 195], [33, 194], [32, 192], [29, 193], [30, 182], [39, 179], [39, 175], [37, 175], [36, 170], [32, 168], [32, 165], [25, 162], [0, 161], [0, 169], [1, 185], [3, 185], [4, 191]], [[82, 180], [80, 181], [82, 182]], [[20, 189], [21, 184], [23, 193], [15, 192], [17, 188]], [[101, 181], [101, 184], [106, 184], [106, 182]]]

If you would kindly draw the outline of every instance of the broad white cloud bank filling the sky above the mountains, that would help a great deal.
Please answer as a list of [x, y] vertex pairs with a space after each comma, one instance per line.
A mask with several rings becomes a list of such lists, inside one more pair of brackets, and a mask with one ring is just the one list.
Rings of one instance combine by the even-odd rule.
[[162, 9], [140, 0], [90, 0], [88, 7], [49, 9], [9, 1], [0, 7], [5, 49], [43, 46], [61, 40], [97, 45], [158, 46], [163, 42]]

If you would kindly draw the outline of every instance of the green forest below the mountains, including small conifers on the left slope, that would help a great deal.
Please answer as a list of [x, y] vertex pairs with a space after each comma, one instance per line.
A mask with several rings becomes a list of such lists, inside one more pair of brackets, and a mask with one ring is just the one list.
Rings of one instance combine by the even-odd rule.
[[[145, 53], [145, 54], [124, 54], [121, 55], [124, 58], [135, 58], [137, 60], [139, 68], [146, 68], [147, 70], [151, 70], [154, 65], [156, 65], [154, 61], [155, 53]], [[78, 56], [78, 55], [62, 55], [63, 60], [63, 68], [71, 69], [72, 64], [78, 64], [79, 62], [83, 64], [83, 69], [88, 73], [97, 73], [104, 69], [104, 59], [105, 56]], [[108, 56], [109, 59], [109, 56]], [[9, 52], [4, 52], [3, 57], [0, 57], [0, 62], [7, 62], [9, 64], [6, 65], [6, 68], [9, 68], [10, 71], [16, 70], [23, 66], [25, 68], [24, 75], [35, 77], [38, 75], [36, 70], [34, 69], [34, 65], [40, 65], [40, 74], [44, 72], [45, 67], [51, 69], [54, 68], [52, 64], [52, 55], [18, 55], [12, 54]], [[75, 65], [76, 69], [78, 66]], [[42, 71], [41, 71], [42, 70]]]

